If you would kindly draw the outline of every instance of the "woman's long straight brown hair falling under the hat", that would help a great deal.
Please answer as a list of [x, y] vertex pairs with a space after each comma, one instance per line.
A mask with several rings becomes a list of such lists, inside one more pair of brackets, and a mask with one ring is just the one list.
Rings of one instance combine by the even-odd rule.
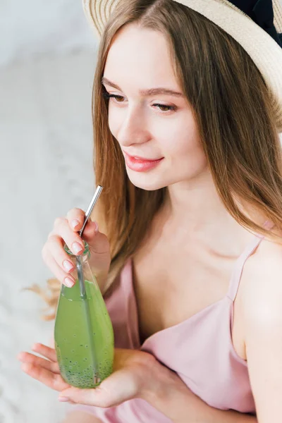
[[94, 219], [109, 238], [112, 258], [105, 289], [144, 240], [167, 193], [130, 183], [108, 125], [109, 100], [102, 87], [106, 57], [118, 30], [133, 22], [166, 37], [227, 211], [245, 228], [266, 235], [241, 212], [241, 201], [282, 228], [281, 145], [271, 95], [255, 63], [220, 27], [176, 1], [121, 0], [100, 42], [92, 96], [94, 171], [104, 187]]

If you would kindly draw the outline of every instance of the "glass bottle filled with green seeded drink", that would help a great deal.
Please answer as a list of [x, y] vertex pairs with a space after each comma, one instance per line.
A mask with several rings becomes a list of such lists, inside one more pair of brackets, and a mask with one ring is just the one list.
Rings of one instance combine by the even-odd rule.
[[80, 262], [85, 281], [81, 296], [76, 256], [64, 249], [75, 265], [75, 285], [61, 287], [54, 338], [61, 376], [77, 388], [94, 388], [113, 371], [114, 331], [96, 278], [90, 269], [90, 251], [85, 243]]

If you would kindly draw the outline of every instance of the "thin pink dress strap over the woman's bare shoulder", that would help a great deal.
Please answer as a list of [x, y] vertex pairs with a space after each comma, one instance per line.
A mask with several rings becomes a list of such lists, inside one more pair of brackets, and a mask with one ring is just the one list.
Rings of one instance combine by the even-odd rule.
[[[274, 226], [274, 223], [267, 220], [264, 222], [263, 226], [266, 229], [271, 229]], [[252, 255], [253, 252], [255, 252], [255, 250], [257, 249], [257, 247], [259, 246], [259, 244], [262, 242], [264, 238], [265, 238], [264, 235], [260, 235], [259, 233], [256, 233], [255, 237], [251, 240], [251, 242], [247, 245], [247, 247], [245, 247], [245, 250], [243, 250], [243, 253], [238, 257], [237, 261], [235, 262], [233, 274], [231, 276], [231, 282], [229, 285], [228, 295], [227, 295], [228, 298], [230, 298], [232, 301], [234, 301], [236, 298], [244, 264], [247, 258], [250, 257], [250, 255]]]

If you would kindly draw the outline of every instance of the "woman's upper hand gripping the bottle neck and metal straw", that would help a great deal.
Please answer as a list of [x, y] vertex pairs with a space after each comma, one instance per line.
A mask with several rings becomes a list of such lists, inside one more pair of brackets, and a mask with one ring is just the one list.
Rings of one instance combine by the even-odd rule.
[[[71, 209], [66, 217], [55, 219], [54, 228], [49, 233], [47, 243], [42, 249], [42, 258], [54, 274], [64, 285], [71, 288], [75, 283], [72, 272], [75, 270], [63, 246], [68, 246], [74, 255], [82, 254], [83, 241], [78, 231], [82, 228], [85, 212], [81, 209]], [[102, 287], [109, 272], [111, 263], [109, 240], [104, 233], [99, 232], [97, 222], [89, 219], [83, 232], [83, 239], [90, 248], [90, 267]]]

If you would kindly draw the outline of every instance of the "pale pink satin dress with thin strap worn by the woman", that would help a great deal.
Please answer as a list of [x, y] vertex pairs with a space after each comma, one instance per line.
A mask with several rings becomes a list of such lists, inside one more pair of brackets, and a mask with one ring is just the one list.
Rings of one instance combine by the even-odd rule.
[[[273, 226], [269, 221], [264, 226]], [[146, 351], [172, 369], [205, 403], [221, 410], [255, 415], [247, 362], [235, 352], [231, 338], [233, 301], [243, 266], [264, 237], [256, 234], [235, 262], [226, 296], [180, 324], [154, 333], [140, 345], [137, 304], [131, 259], [123, 267], [114, 290], [106, 298], [114, 326], [116, 348]], [[72, 406], [98, 417], [103, 423], [171, 423], [142, 399], [128, 400], [117, 407]]]

